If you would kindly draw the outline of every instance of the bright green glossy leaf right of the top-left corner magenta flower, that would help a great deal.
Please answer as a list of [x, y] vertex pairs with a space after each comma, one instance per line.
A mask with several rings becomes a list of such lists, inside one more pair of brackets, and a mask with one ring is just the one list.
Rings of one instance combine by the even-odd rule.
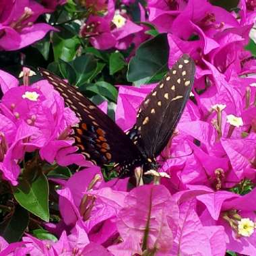
[[77, 36], [64, 39], [55, 33], [52, 40], [55, 61], [59, 61], [59, 59], [66, 62], [72, 61], [79, 46], [79, 39]]

